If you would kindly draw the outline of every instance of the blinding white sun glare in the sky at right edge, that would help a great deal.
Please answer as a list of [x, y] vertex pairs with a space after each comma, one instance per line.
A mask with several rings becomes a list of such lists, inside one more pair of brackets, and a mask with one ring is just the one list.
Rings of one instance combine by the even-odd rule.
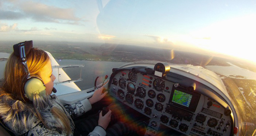
[[190, 33], [190, 43], [213, 52], [256, 62], [256, 15], [230, 19]]

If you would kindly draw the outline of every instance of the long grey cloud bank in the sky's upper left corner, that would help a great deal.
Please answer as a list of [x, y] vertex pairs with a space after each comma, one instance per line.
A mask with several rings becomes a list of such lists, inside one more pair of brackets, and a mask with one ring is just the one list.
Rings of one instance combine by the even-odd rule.
[[[29, 3], [29, 4], [28, 4]], [[45, 5], [34, 1], [9, 1], [9, 9], [0, 10], [0, 19], [21, 19], [30, 18], [38, 22], [54, 22], [54, 23], [68, 23], [80, 25], [81, 18], [75, 15], [74, 9], [60, 8], [55, 6]], [[15, 12], [14, 12], [15, 10]]]

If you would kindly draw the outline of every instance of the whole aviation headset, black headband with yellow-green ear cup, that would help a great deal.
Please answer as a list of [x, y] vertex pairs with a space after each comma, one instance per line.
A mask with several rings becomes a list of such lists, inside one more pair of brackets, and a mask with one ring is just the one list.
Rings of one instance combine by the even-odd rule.
[[[26, 98], [33, 101], [34, 94], [45, 95], [45, 83], [38, 75], [30, 75], [27, 66], [26, 54], [33, 48], [33, 41], [20, 42], [13, 45], [14, 55], [20, 57], [21, 63], [24, 66], [26, 72], [25, 81], [22, 82], [22, 91]], [[22, 92], [21, 96], [23, 98]], [[23, 98], [24, 99], [24, 98]]]

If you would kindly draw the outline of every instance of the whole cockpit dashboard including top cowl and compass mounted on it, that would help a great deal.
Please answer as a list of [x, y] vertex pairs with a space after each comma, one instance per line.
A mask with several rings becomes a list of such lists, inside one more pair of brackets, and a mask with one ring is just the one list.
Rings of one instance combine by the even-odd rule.
[[109, 93], [150, 118], [145, 136], [156, 136], [163, 126], [189, 136], [232, 136], [236, 117], [225, 92], [181, 69], [168, 63], [114, 68]]

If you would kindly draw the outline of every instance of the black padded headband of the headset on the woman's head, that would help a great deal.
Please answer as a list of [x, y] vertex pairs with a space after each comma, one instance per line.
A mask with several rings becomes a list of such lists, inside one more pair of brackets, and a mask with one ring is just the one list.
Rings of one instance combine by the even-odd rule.
[[26, 54], [30, 52], [33, 47], [33, 41], [20, 42], [16, 45], [13, 45], [14, 55], [21, 58], [21, 63], [25, 67], [27, 73], [27, 79], [31, 78], [30, 72], [28, 70]]

